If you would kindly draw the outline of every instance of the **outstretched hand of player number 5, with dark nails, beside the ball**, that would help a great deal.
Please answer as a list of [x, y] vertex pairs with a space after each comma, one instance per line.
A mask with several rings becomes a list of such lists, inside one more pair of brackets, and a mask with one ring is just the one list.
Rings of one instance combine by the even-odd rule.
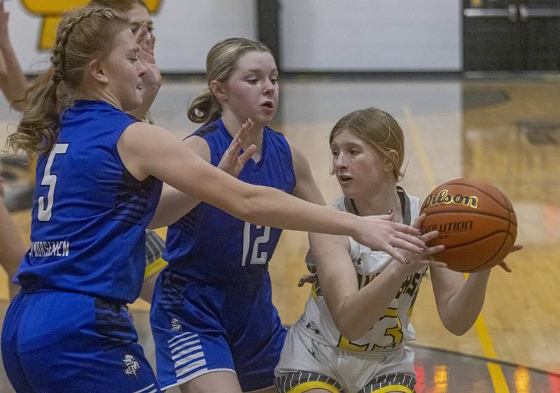
[[353, 236], [358, 243], [372, 250], [382, 250], [402, 264], [408, 264], [408, 256], [402, 255], [397, 248], [414, 253], [426, 251], [426, 244], [420, 237], [420, 229], [393, 222], [393, 213], [359, 217], [358, 234]]

